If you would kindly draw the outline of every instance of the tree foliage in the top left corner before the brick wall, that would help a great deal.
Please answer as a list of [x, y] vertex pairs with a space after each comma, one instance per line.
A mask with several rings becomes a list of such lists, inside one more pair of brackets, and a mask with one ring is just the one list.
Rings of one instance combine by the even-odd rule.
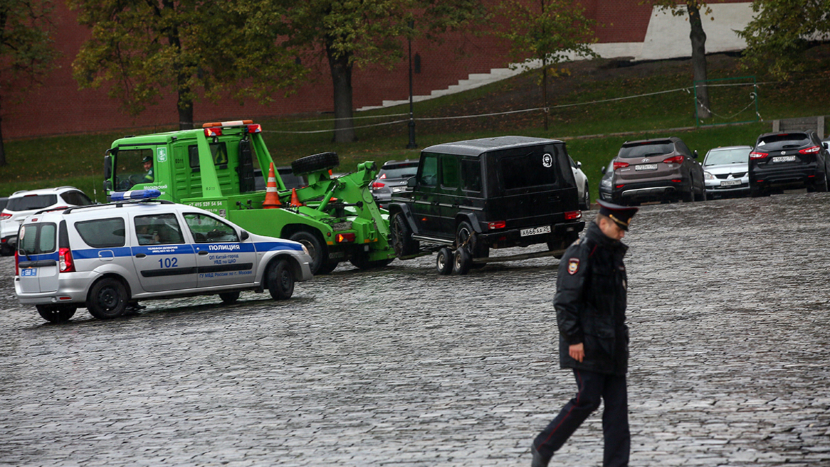
[[[51, 3], [46, 0], [0, 0], [0, 90], [12, 96], [41, 84], [54, 66], [49, 19]], [[0, 131], [0, 165], [6, 165], [6, 150]]]

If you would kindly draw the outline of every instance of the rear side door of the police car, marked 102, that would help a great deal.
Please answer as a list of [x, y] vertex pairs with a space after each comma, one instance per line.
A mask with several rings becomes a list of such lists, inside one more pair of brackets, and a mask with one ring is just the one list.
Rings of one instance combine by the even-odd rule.
[[136, 243], [133, 263], [141, 288], [161, 292], [196, 288], [196, 254], [184, 243], [176, 214], [149, 214], [133, 218]]

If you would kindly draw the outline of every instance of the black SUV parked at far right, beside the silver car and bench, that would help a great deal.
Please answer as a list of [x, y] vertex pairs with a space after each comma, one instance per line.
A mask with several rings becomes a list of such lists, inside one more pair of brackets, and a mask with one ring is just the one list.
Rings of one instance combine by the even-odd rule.
[[749, 194], [773, 189], [828, 190], [830, 155], [815, 131], [765, 133], [749, 153]]

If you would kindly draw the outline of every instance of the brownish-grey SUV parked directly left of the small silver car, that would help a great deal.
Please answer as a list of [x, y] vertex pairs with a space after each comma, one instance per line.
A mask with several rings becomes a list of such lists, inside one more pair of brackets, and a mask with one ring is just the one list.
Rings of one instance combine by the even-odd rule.
[[680, 138], [627, 141], [613, 160], [612, 200], [616, 204], [645, 201], [703, 201], [703, 169]]

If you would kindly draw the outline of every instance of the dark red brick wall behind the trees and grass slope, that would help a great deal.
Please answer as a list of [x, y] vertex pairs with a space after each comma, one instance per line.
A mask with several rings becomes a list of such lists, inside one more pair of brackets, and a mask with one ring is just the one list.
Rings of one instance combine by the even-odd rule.
[[[642, 42], [651, 7], [640, 5], [638, 0], [581, 1], [589, 17], [606, 25], [598, 28], [600, 42]], [[71, 62], [89, 37], [89, 32], [77, 24], [75, 12], [68, 11], [64, 2], [55, 2], [54, 5], [56, 46], [61, 51], [58, 67], [46, 78], [44, 86], [19, 96], [19, 101], [4, 96], [0, 114], [4, 137], [131, 131], [177, 125], [178, 112], [172, 94], [140, 116], [132, 117], [121, 111], [119, 104], [110, 100], [104, 89], [79, 90], [72, 77]], [[463, 53], [458, 54], [457, 50]], [[471, 73], [485, 73], [491, 68], [504, 67], [510, 61], [505, 44], [488, 35], [452, 34], [440, 45], [416, 41], [413, 42], [413, 55], [416, 52], [421, 56], [422, 66], [421, 72], [414, 75], [415, 95], [446, 89]], [[328, 63], [321, 59], [313, 65], [317, 72], [311, 76], [309, 84], [291, 96], [275, 96], [276, 101], [264, 106], [253, 101], [240, 106], [231, 99], [217, 103], [197, 101], [194, 119], [203, 122], [333, 111]], [[407, 62], [403, 61], [391, 71], [378, 66], [356, 69], [352, 84], [355, 108], [378, 106], [384, 100], [407, 99]]]

